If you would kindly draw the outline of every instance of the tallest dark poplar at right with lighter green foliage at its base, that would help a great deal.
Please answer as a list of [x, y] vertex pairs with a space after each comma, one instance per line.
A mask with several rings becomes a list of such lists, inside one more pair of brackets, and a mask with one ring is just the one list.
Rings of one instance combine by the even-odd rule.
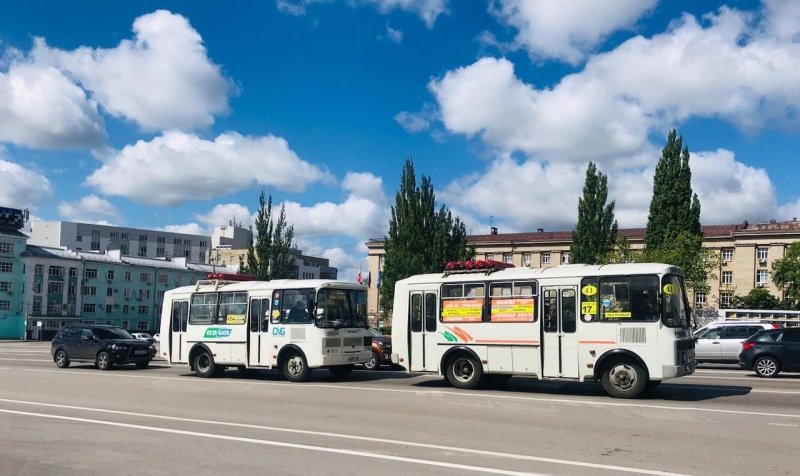
[[689, 148], [675, 129], [669, 132], [656, 165], [644, 241], [643, 261], [680, 266], [689, 288], [708, 291], [719, 255], [703, 248], [700, 201], [692, 193]]

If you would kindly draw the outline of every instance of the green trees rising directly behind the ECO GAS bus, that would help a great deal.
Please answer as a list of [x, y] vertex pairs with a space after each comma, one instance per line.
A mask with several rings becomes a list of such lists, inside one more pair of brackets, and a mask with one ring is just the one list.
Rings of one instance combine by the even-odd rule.
[[289, 253], [294, 240], [294, 226], [286, 223], [286, 210], [276, 217], [272, 214], [272, 195], [264, 197], [264, 191], [258, 198], [258, 214], [255, 222], [255, 238], [253, 225], [250, 225], [250, 244], [247, 248], [247, 262], [239, 260], [242, 273], [253, 274], [257, 279], [296, 278], [297, 268], [294, 257]]

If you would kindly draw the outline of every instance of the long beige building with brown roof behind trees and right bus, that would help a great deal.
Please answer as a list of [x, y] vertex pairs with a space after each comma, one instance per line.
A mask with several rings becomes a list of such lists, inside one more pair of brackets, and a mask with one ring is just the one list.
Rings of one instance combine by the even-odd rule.
[[[644, 228], [627, 228], [619, 233], [628, 238], [631, 249], [644, 248]], [[765, 287], [774, 296], [783, 299], [784, 291], [772, 282], [770, 270], [776, 259], [783, 258], [786, 248], [800, 240], [800, 221], [739, 225], [712, 225], [703, 227], [705, 246], [722, 258], [716, 270], [716, 279], [709, 282], [708, 294], [692, 296], [698, 307], [729, 308], [733, 296], [742, 296], [755, 287]], [[549, 268], [569, 263], [572, 231], [544, 231], [532, 233], [497, 233], [469, 235], [467, 242], [475, 246], [476, 259], [493, 259], [513, 263], [515, 266]], [[383, 269], [383, 240], [370, 240], [368, 312], [381, 314], [378, 307], [378, 283]]]

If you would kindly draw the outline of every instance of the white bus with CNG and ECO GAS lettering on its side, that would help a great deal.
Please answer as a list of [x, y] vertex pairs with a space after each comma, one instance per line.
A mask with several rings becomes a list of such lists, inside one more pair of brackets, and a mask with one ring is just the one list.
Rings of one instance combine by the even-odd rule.
[[200, 377], [226, 367], [336, 376], [372, 356], [364, 286], [331, 280], [202, 280], [164, 293], [160, 354]]

